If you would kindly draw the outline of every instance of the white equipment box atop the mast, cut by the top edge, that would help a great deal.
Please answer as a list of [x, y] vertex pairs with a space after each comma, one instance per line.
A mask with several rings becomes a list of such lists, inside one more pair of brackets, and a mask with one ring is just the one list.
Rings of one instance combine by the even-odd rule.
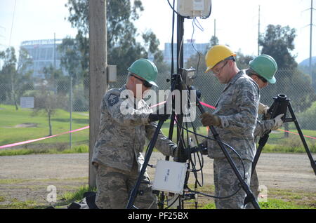
[[211, 13], [211, 0], [178, 0], [177, 11], [190, 18], [207, 18]]

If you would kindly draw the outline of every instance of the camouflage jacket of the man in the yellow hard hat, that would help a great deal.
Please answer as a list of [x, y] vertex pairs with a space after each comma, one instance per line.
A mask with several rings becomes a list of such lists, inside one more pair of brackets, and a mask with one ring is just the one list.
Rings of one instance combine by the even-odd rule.
[[[215, 127], [220, 139], [249, 161], [253, 160], [256, 151], [254, 129], [258, 116], [259, 97], [260, 90], [256, 82], [241, 71], [226, 84], [213, 112], [221, 120], [221, 126]], [[213, 138], [211, 131], [209, 137]], [[225, 157], [217, 142], [207, 141], [209, 157]], [[227, 150], [230, 156], [237, 157], [231, 149]]]

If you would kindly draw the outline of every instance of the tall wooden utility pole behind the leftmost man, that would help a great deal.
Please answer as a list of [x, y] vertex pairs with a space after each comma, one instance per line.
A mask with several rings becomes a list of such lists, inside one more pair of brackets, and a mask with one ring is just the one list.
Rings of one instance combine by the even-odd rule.
[[96, 187], [96, 172], [91, 165], [93, 147], [98, 136], [100, 104], [107, 91], [106, 0], [89, 0], [89, 187]]

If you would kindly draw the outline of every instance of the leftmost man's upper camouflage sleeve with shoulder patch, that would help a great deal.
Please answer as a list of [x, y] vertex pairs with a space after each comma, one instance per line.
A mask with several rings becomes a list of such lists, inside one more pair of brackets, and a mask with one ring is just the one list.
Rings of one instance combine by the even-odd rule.
[[119, 92], [106, 94], [102, 106], [121, 125], [139, 126], [149, 124], [148, 116], [150, 112], [134, 109], [126, 98], [120, 97]]

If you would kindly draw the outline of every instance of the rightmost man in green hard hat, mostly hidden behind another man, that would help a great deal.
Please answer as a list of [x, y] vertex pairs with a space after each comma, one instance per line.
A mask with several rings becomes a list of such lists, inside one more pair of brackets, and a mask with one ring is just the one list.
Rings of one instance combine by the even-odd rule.
[[[268, 83], [275, 83], [275, 72], [277, 72], [277, 62], [270, 57], [270, 55], [259, 55], [249, 62], [249, 69], [246, 69], [246, 74], [251, 77], [258, 84], [259, 88], [265, 88]], [[267, 116], [269, 107], [265, 104], [259, 103], [258, 114]], [[255, 137], [261, 137], [270, 130], [277, 130], [283, 124], [281, 119], [284, 114], [279, 114], [275, 119], [257, 120], [256, 129], [254, 131]], [[251, 176], [250, 189], [254, 196], [258, 198], [260, 193], [258, 175], [256, 169]], [[253, 209], [254, 205], [248, 203], [247, 209]]]

